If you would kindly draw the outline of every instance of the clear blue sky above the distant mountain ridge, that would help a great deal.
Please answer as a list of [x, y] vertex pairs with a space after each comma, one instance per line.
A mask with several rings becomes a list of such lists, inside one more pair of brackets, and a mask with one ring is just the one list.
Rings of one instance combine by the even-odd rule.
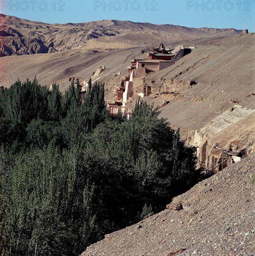
[[131, 20], [255, 32], [255, 0], [0, 0], [0, 12], [46, 23]]

